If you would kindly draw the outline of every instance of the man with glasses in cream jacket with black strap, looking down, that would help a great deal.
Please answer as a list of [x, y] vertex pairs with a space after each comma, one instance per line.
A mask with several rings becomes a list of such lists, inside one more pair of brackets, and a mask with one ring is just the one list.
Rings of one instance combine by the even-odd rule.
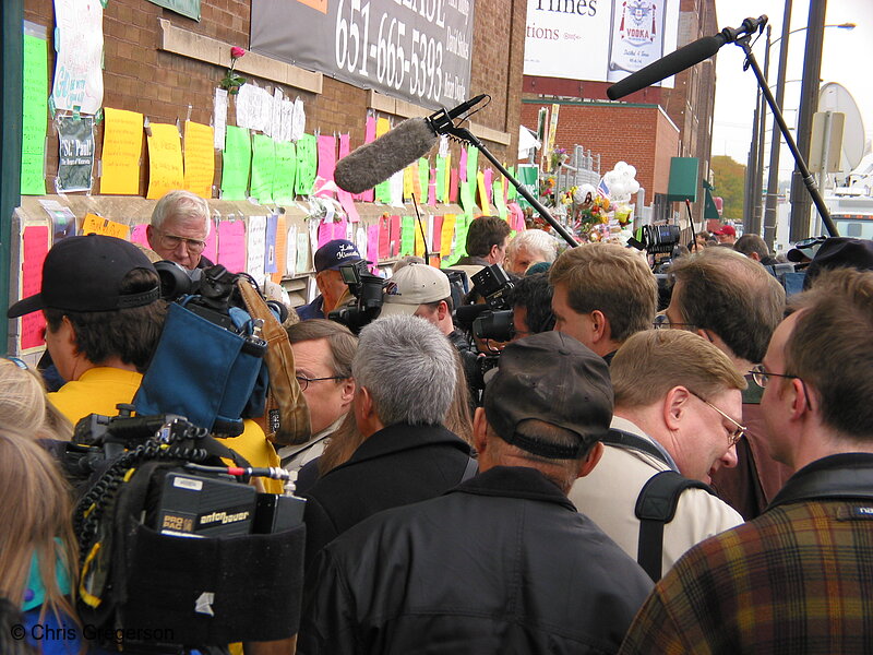
[[657, 581], [689, 548], [742, 523], [707, 483], [737, 464], [745, 381], [717, 347], [680, 330], [632, 335], [610, 372], [603, 456], [570, 499]]

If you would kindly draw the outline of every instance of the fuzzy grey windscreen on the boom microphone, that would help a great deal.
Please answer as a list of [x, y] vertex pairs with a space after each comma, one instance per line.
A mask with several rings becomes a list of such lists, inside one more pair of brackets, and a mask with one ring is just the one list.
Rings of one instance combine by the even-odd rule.
[[410, 118], [372, 143], [346, 155], [336, 165], [336, 186], [362, 193], [428, 154], [436, 133], [423, 118]]

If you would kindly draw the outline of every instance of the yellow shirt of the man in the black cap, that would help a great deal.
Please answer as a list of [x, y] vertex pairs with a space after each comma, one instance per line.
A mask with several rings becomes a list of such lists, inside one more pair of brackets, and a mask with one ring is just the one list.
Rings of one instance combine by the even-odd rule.
[[[132, 403], [142, 382], [142, 373], [111, 367], [95, 367], [86, 370], [79, 380], [68, 382], [60, 390], [48, 394], [48, 400], [70, 422], [75, 425], [88, 414], [117, 416], [119, 403]], [[266, 440], [264, 431], [253, 420], [243, 421], [239, 437], [219, 439], [230, 450], [239, 453], [256, 467], [278, 467], [276, 449]], [[230, 462], [228, 462], [230, 464]], [[262, 478], [270, 493], [282, 493], [279, 480]]]

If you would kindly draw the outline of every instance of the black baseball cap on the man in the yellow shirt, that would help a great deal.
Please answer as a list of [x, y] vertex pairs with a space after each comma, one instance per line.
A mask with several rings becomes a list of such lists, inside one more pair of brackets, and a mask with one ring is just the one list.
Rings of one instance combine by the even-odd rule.
[[121, 282], [135, 269], [152, 271], [157, 277], [152, 262], [133, 243], [101, 235], [68, 237], [43, 262], [40, 293], [15, 302], [7, 315], [14, 319], [47, 308], [91, 312], [150, 305], [160, 298], [158, 285], [121, 294]]

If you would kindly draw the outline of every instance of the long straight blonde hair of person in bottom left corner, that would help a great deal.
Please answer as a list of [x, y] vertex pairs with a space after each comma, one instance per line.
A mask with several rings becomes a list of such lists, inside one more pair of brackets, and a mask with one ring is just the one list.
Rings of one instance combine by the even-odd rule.
[[[36, 555], [46, 590], [40, 620], [48, 610], [75, 619], [58, 585], [58, 567], [75, 584], [76, 545], [70, 489], [45, 450], [27, 437], [0, 429], [0, 596], [21, 608], [31, 561]], [[74, 591], [74, 590], [73, 590]]]

